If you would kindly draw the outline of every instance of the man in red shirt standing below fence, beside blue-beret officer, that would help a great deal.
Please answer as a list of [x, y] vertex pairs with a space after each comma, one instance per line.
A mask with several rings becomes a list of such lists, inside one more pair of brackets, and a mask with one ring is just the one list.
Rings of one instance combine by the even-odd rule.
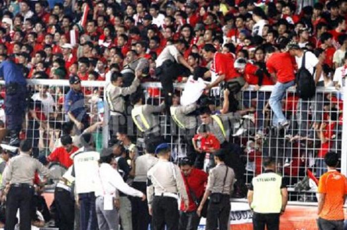
[[193, 162], [185, 157], [179, 160], [183, 181], [188, 194], [189, 206], [185, 210], [184, 202], [181, 202], [179, 212], [178, 230], [197, 230], [200, 217], [196, 210], [205, 192], [207, 184], [207, 173], [193, 167]]

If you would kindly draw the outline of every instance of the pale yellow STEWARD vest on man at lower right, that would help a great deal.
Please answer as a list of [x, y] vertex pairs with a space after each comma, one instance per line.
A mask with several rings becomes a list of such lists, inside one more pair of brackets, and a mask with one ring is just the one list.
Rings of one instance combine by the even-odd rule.
[[253, 201], [257, 213], [280, 213], [282, 208], [282, 177], [276, 173], [263, 173], [253, 178]]

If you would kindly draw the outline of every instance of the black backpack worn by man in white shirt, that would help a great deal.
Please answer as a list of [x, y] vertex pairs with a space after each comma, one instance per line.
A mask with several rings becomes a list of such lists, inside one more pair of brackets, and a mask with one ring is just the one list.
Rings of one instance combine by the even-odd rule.
[[310, 71], [305, 68], [305, 55], [302, 57], [301, 68], [296, 73], [296, 93], [301, 99], [307, 100], [316, 93], [316, 84]]

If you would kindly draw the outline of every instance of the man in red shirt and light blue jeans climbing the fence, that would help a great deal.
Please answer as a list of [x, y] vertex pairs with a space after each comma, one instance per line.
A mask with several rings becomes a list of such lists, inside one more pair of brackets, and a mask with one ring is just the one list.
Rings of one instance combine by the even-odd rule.
[[273, 46], [266, 50], [266, 68], [276, 81], [269, 104], [274, 112], [273, 125], [288, 127], [289, 122], [282, 111], [282, 98], [289, 87], [295, 85], [294, 62], [289, 52], [276, 52]]

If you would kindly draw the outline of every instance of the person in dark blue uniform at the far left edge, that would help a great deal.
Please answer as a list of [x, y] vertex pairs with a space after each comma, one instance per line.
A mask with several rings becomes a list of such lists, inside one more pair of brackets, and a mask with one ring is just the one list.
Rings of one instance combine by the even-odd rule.
[[4, 100], [7, 129], [10, 145], [19, 145], [19, 132], [22, 129], [26, 109], [26, 80], [19, 65], [6, 58], [0, 64], [0, 78], [5, 80], [6, 96]]

